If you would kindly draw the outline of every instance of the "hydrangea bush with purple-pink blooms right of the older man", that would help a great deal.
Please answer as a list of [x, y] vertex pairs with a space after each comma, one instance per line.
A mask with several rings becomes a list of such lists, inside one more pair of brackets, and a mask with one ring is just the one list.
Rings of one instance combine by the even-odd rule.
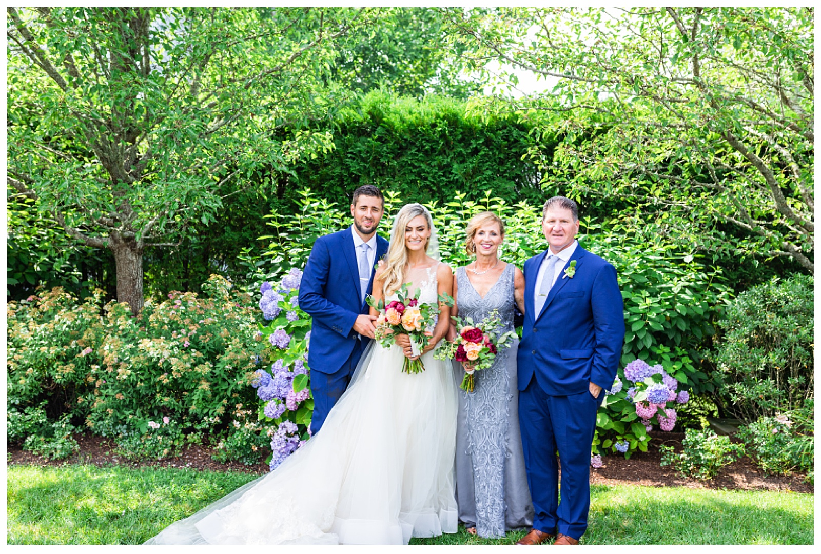
[[[596, 419], [593, 454], [608, 451], [630, 458], [636, 450], [647, 451], [648, 433], [658, 427], [672, 431], [676, 410], [690, 400], [687, 376], [680, 371], [689, 360], [674, 361], [665, 347], [656, 349], [660, 364], [635, 359], [619, 372]], [[681, 381], [679, 381], [681, 379]]]

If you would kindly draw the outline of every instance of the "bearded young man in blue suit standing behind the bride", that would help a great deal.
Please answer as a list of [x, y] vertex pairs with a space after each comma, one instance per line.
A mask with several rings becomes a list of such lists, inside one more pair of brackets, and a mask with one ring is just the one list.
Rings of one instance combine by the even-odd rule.
[[388, 240], [376, 234], [384, 199], [373, 185], [354, 191], [354, 224], [320, 236], [310, 251], [300, 284], [300, 308], [314, 318], [308, 366], [314, 396], [311, 433], [317, 433], [328, 412], [351, 381], [356, 363], [374, 338], [374, 320], [365, 296], [374, 285], [374, 267], [388, 252]]

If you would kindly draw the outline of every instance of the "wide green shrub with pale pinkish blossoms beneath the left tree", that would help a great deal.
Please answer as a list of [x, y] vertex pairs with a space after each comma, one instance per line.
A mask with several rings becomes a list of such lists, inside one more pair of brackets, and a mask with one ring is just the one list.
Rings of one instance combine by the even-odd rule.
[[10, 303], [9, 413], [48, 401], [50, 419], [68, 413], [121, 440], [163, 417], [186, 432], [226, 428], [253, 399], [255, 306], [223, 277], [203, 289], [209, 298], [172, 293], [137, 318], [127, 304], [80, 302], [59, 288]]

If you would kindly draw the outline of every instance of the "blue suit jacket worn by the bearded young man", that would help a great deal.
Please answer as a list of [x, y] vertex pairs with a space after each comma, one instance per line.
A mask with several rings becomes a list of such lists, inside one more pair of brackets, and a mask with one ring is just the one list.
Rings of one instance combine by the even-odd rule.
[[[311, 324], [308, 366], [319, 373], [336, 373], [351, 357], [356, 341], [356, 317], [369, 310], [361, 297], [351, 227], [320, 236], [310, 251], [300, 284], [300, 308], [314, 318]], [[388, 240], [376, 238], [376, 257], [388, 252]], [[374, 263], [375, 265], [375, 263]], [[371, 268], [368, 292], [374, 286]], [[370, 339], [362, 337], [363, 346]]]

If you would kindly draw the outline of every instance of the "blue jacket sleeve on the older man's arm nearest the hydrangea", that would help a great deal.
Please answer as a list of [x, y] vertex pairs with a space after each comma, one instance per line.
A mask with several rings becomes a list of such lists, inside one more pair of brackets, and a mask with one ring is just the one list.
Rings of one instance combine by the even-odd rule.
[[618, 289], [616, 268], [611, 264], [605, 265], [596, 275], [590, 302], [596, 333], [590, 381], [608, 390], [616, 379], [624, 343], [624, 304]]

